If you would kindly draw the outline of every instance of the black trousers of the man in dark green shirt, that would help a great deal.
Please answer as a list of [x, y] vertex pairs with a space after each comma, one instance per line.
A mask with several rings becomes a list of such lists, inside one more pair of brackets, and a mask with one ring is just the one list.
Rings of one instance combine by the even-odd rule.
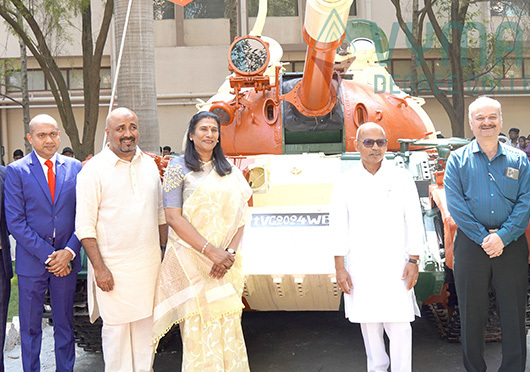
[[454, 276], [466, 370], [486, 371], [484, 336], [491, 286], [497, 298], [502, 330], [499, 372], [524, 372], [528, 285], [528, 243], [525, 235], [504, 247], [501, 256], [489, 258], [480, 245], [458, 229], [454, 241]]

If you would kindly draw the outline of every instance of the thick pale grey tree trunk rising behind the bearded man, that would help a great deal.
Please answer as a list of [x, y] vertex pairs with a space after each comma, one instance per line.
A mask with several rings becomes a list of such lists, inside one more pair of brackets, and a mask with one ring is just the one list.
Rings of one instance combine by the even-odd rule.
[[[129, 0], [116, 0], [116, 45], [122, 40]], [[118, 104], [133, 110], [140, 128], [139, 146], [159, 153], [160, 131], [156, 106], [153, 2], [133, 1], [118, 75]]]

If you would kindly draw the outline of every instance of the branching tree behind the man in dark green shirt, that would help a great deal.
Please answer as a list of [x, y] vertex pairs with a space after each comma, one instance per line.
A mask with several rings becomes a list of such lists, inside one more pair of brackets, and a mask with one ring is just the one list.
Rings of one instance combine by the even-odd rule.
[[[467, 52], [469, 52], [467, 48], [467, 33], [471, 29], [478, 27], [477, 23], [471, 22], [472, 20], [470, 19], [477, 16], [477, 14], [472, 14], [469, 7], [472, 4], [489, 2], [489, 0], [422, 0], [423, 6], [416, 5], [413, 9], [412, 27], [409, 27], [405, 19], [404, 2], [402, 0], [391, 0], [391, 2], [395, 7], [399, 26], [411, 45], [415, 62], [420, 64], [430, 91], [442, 105], [449, 117], [453, 136], [464, 137], [466, 109], [464, 97], [466, 94], [469, 94], [465, 91], [466, 82], [469, 79], [476, 80], [478, 77], [484, 76], [493, 69], [498, 68], [499, 64], [502, 67], [502, 58], [499, 59], [496, 57], [499, 50], [495, 50], [496, 47], [499, 48], [499, 44], [494, 42], [492, 34], [483, 34], [480, 37], [484, 38], [484, 40], [480, 40], [479, 43], [484, 43], [483, 45], [488, 46], [488, 60], [481, 59], [480, 63], [474, 64], [471, 74], [464, 72], [464, 70], [469, 72], [469, 68], [467, 67]], [[498, 2], [520, 4], [521, 7], [517, 8], [520, 11], [517, 24], [520, 24], [523, 15], [521, 9], [528, 7], [526, 0], [506, 0]], [[440, 17], [441, 13], [446, 16], [445, 19], [444, 17]], [[447, 21], [445, 25], [440, 23], [443, 20]], [[424, 50], [420, 41], [423, 38], [427, 21], [432, 25], [432, 36], [441, 47], [442, 54], [446, 56], [449, 62], [451, 74], [448, 77], [448, 83], [450, 89], [447, 90], [440, 89], [437, 86], [432, 68], [427, 63], [427, 60], [423, 58]], [[504, 56], [514, 52], [517, 39], [521, 35], [518, 35], [516, 30], [511, 36], [513, 37], [512, 43], [514, 45], [512, 48], [504, 51]], [[417, 93], [417, 87], [420, 82], [417, 74], [415, 76], [413, 74], [413, 78], [416, 79], [412, 85], [413, 91], [416, 90], [413, 93]]]

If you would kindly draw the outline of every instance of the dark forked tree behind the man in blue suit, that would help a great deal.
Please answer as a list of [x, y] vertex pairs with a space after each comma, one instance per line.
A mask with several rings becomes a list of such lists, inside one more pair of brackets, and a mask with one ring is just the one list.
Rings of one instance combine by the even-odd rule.
[[[57, 104], [64, 130], [80, 159], [94, 153], [99, 115], [100, 68], [112, 19], [114, 0], [104, 2], [103, 17], [94, 43], [90, 0], [5, 0], [0, 2], [0, 17], [12, 28], [37, 60]], [[24, 24], [18, 22], [20, 14]], [[72, 15], [81, 16], [83, 53], [84, 124], [80, 137], [66, 81], [55, 61], [52, 40], [62, 34]], [[51, 36], [55, 36], [52, 38]]]

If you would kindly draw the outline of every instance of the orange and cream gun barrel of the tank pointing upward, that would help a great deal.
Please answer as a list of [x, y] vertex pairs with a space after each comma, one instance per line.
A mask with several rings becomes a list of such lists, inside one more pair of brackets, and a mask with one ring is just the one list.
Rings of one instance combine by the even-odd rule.
[[[331, 86], [335, 50], [344, 39], [353, 0], [309, 0], [304, 20], [307, 43], [304, 75], [298, 92], [302, 112], [312, 116], [329, 112], [336, 101]], [[298, 109], [299, 105], [295, 104]]]

